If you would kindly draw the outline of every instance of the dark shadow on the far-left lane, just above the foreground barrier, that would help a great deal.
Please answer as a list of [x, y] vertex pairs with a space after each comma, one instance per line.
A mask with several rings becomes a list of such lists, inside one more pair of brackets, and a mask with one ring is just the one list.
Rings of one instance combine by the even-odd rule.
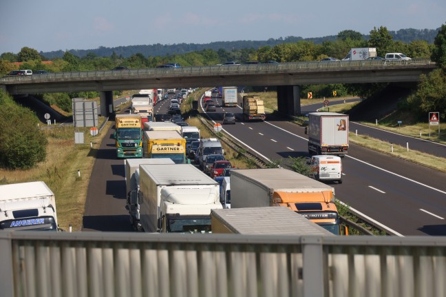
[[82, 231], [134, 232], [129, 215], [84, 216]]

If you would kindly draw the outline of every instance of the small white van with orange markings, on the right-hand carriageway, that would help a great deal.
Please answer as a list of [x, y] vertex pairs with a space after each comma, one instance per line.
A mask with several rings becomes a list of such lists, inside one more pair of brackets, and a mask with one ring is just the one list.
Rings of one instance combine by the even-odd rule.
[[339, 156], [312, 156], [310, 168], [313, 178], [317, 181], [337, 181], [342, 183], [342, 162]]

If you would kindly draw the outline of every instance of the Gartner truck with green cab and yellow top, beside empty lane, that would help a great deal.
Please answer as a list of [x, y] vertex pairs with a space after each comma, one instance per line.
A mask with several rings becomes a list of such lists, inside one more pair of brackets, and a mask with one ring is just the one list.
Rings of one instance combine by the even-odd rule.
[[118, 158], [142, 158], [141, 116], [116, 114], [114, 139]]

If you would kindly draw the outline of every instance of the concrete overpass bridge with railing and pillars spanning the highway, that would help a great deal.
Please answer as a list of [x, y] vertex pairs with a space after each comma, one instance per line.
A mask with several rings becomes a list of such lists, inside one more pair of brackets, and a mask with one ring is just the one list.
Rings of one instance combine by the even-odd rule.
[[114, 90], [209, 86], [276, 86], [278, 110], [300, 114], [299, 85], [319, 83], [417, 82], [436, 69], [428, 59], [410, 61], [330, 61], [257, 65], [213, 65], [120, 71], [57, 72], [5, 76], [0, 88], [11, 95], [51, 92], [100, 93], [100, 113], [113, 110]]

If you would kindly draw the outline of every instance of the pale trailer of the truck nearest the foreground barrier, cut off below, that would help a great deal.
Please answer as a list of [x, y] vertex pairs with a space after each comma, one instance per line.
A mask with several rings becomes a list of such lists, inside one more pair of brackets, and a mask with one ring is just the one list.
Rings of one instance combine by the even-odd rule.
[[246, 207], [211, 210], [213, 234], [334, 236], [286, 207]]

